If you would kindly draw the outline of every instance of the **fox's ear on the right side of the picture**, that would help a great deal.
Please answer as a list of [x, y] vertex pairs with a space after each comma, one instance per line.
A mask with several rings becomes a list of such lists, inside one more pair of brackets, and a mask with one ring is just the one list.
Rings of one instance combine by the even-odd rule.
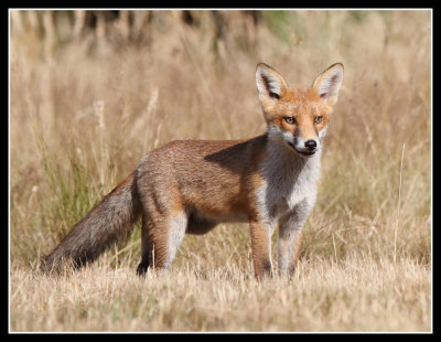
[[315, 78], [314, 83], [312, 84], [312, 88], [319, 93], [323, 100], [330, 103], [331, 105], [335, 105], [342, 82], [343, 64], [335, 63]]

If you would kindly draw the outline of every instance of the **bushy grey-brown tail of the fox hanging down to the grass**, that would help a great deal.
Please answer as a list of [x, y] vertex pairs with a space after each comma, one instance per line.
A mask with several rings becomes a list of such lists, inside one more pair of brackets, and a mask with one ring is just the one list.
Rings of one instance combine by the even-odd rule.
[[41, 270], [60, 271], [63, 265], [79, 268], [126, 236], [141, 212], [135, 179], [136, 171], [75, 224], [62, 243], [42, 259]]

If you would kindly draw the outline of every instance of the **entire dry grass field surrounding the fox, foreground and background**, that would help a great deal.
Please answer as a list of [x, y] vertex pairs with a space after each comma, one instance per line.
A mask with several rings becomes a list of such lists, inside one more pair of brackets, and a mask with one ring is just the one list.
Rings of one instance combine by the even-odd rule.
[[[10, 13], [11, 332], [432, 330], [430, 11]], [[245, 224], [185, 236], [165, 275], [136, 276], [139, 225], [37, 271], [150, 150], [262, 133], [259, 62], [298, 86], [345, 65], [292, 279], [254, 279]]]

